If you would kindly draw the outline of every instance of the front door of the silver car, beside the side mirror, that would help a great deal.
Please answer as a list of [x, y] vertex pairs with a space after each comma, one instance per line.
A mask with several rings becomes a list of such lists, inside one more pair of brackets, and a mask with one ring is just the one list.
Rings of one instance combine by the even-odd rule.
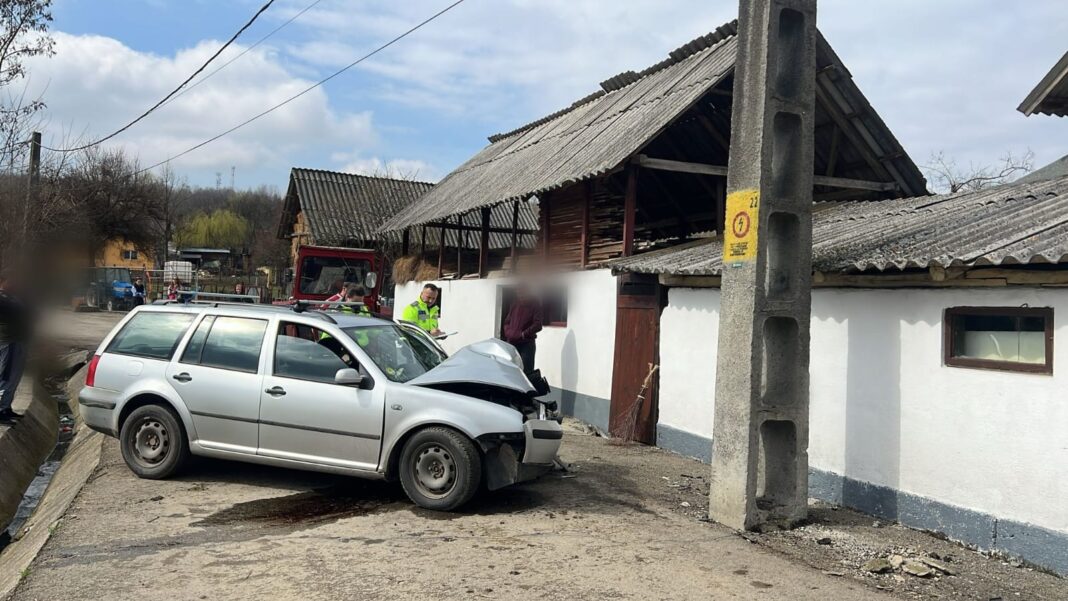
[[[339, 369], [359, 368], [337, 338], [307, 325], [280, 321], [260, 400], [260, 454], [312, 463], [375, 470], [381, 447], [384, 393], [365, 374], [362, 386], [334, 383]], [[351, 341], [349, 341], [349, 347]]]

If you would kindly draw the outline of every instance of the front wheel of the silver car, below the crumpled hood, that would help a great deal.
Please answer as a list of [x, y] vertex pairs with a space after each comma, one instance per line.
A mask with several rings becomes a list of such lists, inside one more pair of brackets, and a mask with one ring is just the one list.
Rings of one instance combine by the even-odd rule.
[[452, 511], [478, 492], [482, 456], [471, 439], [449, 428], [415, 432], [400, 453], [400, 486], [425, 509]]

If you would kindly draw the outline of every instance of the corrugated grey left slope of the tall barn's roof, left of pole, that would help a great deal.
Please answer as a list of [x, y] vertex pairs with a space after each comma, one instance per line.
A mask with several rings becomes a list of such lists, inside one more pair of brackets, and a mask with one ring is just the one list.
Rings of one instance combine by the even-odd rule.
[[735, 26], [721, 30], [695, 41], [696, 51], [644, 77], [616, 76], [563, 111], [490, 138], [491, 144], [442, 179], [418, 210], [382, 228], [437, 221], [607, 173], [727, 76]]

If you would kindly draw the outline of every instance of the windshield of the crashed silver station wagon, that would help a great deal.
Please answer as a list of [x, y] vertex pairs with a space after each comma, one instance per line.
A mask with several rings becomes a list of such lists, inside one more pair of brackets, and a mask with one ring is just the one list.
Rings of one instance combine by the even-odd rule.
[[375, 365], [394, 382], [407, 382], [434, 369], [444, 355], [399, 326], [345, 328]]

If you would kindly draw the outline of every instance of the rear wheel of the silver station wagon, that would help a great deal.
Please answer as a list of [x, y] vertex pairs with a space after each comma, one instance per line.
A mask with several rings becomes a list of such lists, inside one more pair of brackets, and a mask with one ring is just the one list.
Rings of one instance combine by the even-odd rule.
[[139, 478], [158, 480], [189, 461], [189, 441], [174, 411], [159, 405], [134, 410], [119, 432], [123, 459]]

